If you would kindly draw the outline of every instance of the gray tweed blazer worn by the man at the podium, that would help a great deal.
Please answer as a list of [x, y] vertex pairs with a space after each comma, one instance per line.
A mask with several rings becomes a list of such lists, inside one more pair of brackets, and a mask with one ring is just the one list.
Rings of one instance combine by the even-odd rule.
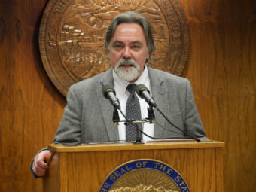
[[[151, 94], [163, 114], [166, 114], [175, 126], [197, 138], [206, 139], [190, 82], [186, 78], [150, 67], [148, 73]], [[101, 83], [113, 85], [112, 68], [70, 87], [54, 143], [80, 144], [119, 140], [118, 128], [112, 122], [113, 106], [102, 95]], [[154, 137], [184, 136], [184, 133], [171, 126], [157, 110], [154, 112]]]

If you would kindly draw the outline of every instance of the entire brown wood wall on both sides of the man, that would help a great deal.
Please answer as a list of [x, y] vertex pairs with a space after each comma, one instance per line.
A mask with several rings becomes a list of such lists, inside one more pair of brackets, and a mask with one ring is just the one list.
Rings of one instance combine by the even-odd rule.
[[[209, 138], [226, 142], [224, 191], [256, 191], [256, 2], [180, 0], [189, 78]], [[41, 191], [29, 163], [53, 140], [66, 99], [41, 63], [47, 0], [0, 1], [0, 191]]]

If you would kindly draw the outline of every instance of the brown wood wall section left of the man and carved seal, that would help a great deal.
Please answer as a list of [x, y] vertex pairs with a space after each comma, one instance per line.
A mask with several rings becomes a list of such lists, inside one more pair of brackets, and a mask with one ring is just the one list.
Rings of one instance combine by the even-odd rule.
[[41, 191], [29, 164], [52, 142], [65, 105], [38, 50], [46, 2], [0, 2], [0, 191]]

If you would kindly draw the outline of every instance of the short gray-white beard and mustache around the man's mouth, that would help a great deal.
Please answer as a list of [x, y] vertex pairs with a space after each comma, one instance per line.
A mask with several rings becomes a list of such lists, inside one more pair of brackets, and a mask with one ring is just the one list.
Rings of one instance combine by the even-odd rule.
[[[122, 66], [133, 66], [130, 68], [124, 68]], [[141, 69], [137, 62], [133, 59], [120, 59], [117, 65], [114, 67], [114, 72], [117, 73], [118, 77], [124, 81], [133, 81], [139, 77]]]

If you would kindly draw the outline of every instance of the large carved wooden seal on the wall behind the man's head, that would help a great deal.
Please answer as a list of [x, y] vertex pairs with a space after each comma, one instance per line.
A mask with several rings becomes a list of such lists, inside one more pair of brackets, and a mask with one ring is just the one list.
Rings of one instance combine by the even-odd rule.
[[105, 32], [111, 20], [125, 11], [143, 14], [153, 26], [157, 50], [148, 66], [181, 75], [189, 32], [178, 0], [49, 0], [39, 47], [48, 76], [64, 96], [72, 84], [110, 68], [103, 46]]

